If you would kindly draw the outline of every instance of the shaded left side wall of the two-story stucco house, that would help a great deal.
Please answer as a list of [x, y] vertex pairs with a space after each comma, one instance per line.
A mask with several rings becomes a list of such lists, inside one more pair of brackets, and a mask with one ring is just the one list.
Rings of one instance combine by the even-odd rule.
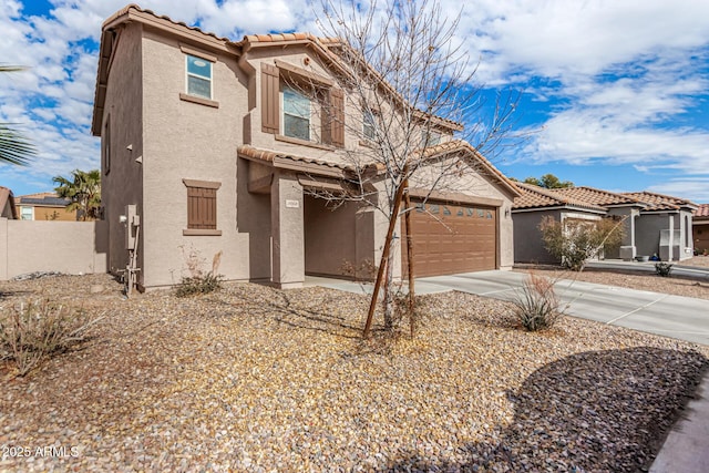
[[[143, 156], [141, 35], [140, 23], [127, 24], [120, 34], [101, 127], [103, 134], [110, 117], [111, 165], [106, 174], [102, 146], [101, 196], [109, 232], [107, 269], [112, 273], [124, 269], [129, 258], [125, 225], [119, 222], [120, 216], [125, 214], [129, 204], [137, 205], [138, 215], [143, 213], [143, 169], [136, 162]], [[142, 250], [141, 244], [138, 253]], [[143, 267], [142, 258], [138, 267]]]

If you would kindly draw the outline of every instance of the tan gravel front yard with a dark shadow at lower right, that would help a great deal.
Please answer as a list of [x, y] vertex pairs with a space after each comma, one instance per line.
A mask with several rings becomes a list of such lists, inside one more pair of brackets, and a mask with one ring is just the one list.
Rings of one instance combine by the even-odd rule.
[[0, 367], [0, 471], [639, 471], [709, 356], [571, 318], [527, 333], [458, 292], [420, 299], [415, 340], [367, 342], [367, 298], [323, 288], [124, 300], [95, 275], [0, 292], [106, 316], [24, 378]]

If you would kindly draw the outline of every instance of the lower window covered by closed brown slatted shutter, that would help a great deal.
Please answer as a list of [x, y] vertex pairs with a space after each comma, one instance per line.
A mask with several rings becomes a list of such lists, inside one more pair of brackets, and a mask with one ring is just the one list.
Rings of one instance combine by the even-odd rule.
[[183, 235], [222, 235], [217, 230], [217, 189], [222, 183], [182, 179], [187, 187], [187, 229]]

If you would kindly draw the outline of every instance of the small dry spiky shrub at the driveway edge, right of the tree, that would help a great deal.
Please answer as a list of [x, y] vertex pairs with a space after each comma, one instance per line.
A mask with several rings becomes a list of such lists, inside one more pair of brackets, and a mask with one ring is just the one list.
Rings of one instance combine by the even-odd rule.
[[516, 319], [527, 331], [552, 328], [562, 317], [554, 281], [533, 273], [512, 300]]

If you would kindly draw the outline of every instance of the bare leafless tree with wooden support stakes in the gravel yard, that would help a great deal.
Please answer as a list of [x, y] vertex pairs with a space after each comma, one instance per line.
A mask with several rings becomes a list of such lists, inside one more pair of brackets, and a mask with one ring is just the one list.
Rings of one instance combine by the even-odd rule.
[[[318, 23], [329, 39], [322, 41], [337, 58], [337, 80], [347, 93], [341, 99], [346, 103], [316, 99], [323, 116], [340, 120], [348, 135], [359, 137], [366, 145], [345, 150], [352, 169], [347, 192], [319, 191], [317, 196], [336, 204], [366, 203], [389, 222], [363, 328], [367, 338], [382, 281], [386, 325], [391, 321], [392, 247], [399, 217], [411, 210], [409, 182], [415, 181], [418, 187], [428, 191], [425, 200], [432, 192], [460, 179], [466, 172], [463, 164], [467, 168], [474, 164], [470, 160], [462, 163], [464, 158], [451, 152], [464, 143], [482, 158], [482, 153], [497, 148], [511, 131], [511, 114], [518, 95], [499, 95], [492, 112], [483, 113], [485, 104], [474, 81], [476, 64], [471, 63], [465, 44], [456, 35], [460, 16], [449, 16], [451, 12], [443, 11], [438, 0], [386, 0], [381, 4], [369, 3], [366, 11], [354, 0], [323, 1]], [[309, 94], [318, 94], [315, 85]], [[414, 255], [408, 228], [413, 335]]]

